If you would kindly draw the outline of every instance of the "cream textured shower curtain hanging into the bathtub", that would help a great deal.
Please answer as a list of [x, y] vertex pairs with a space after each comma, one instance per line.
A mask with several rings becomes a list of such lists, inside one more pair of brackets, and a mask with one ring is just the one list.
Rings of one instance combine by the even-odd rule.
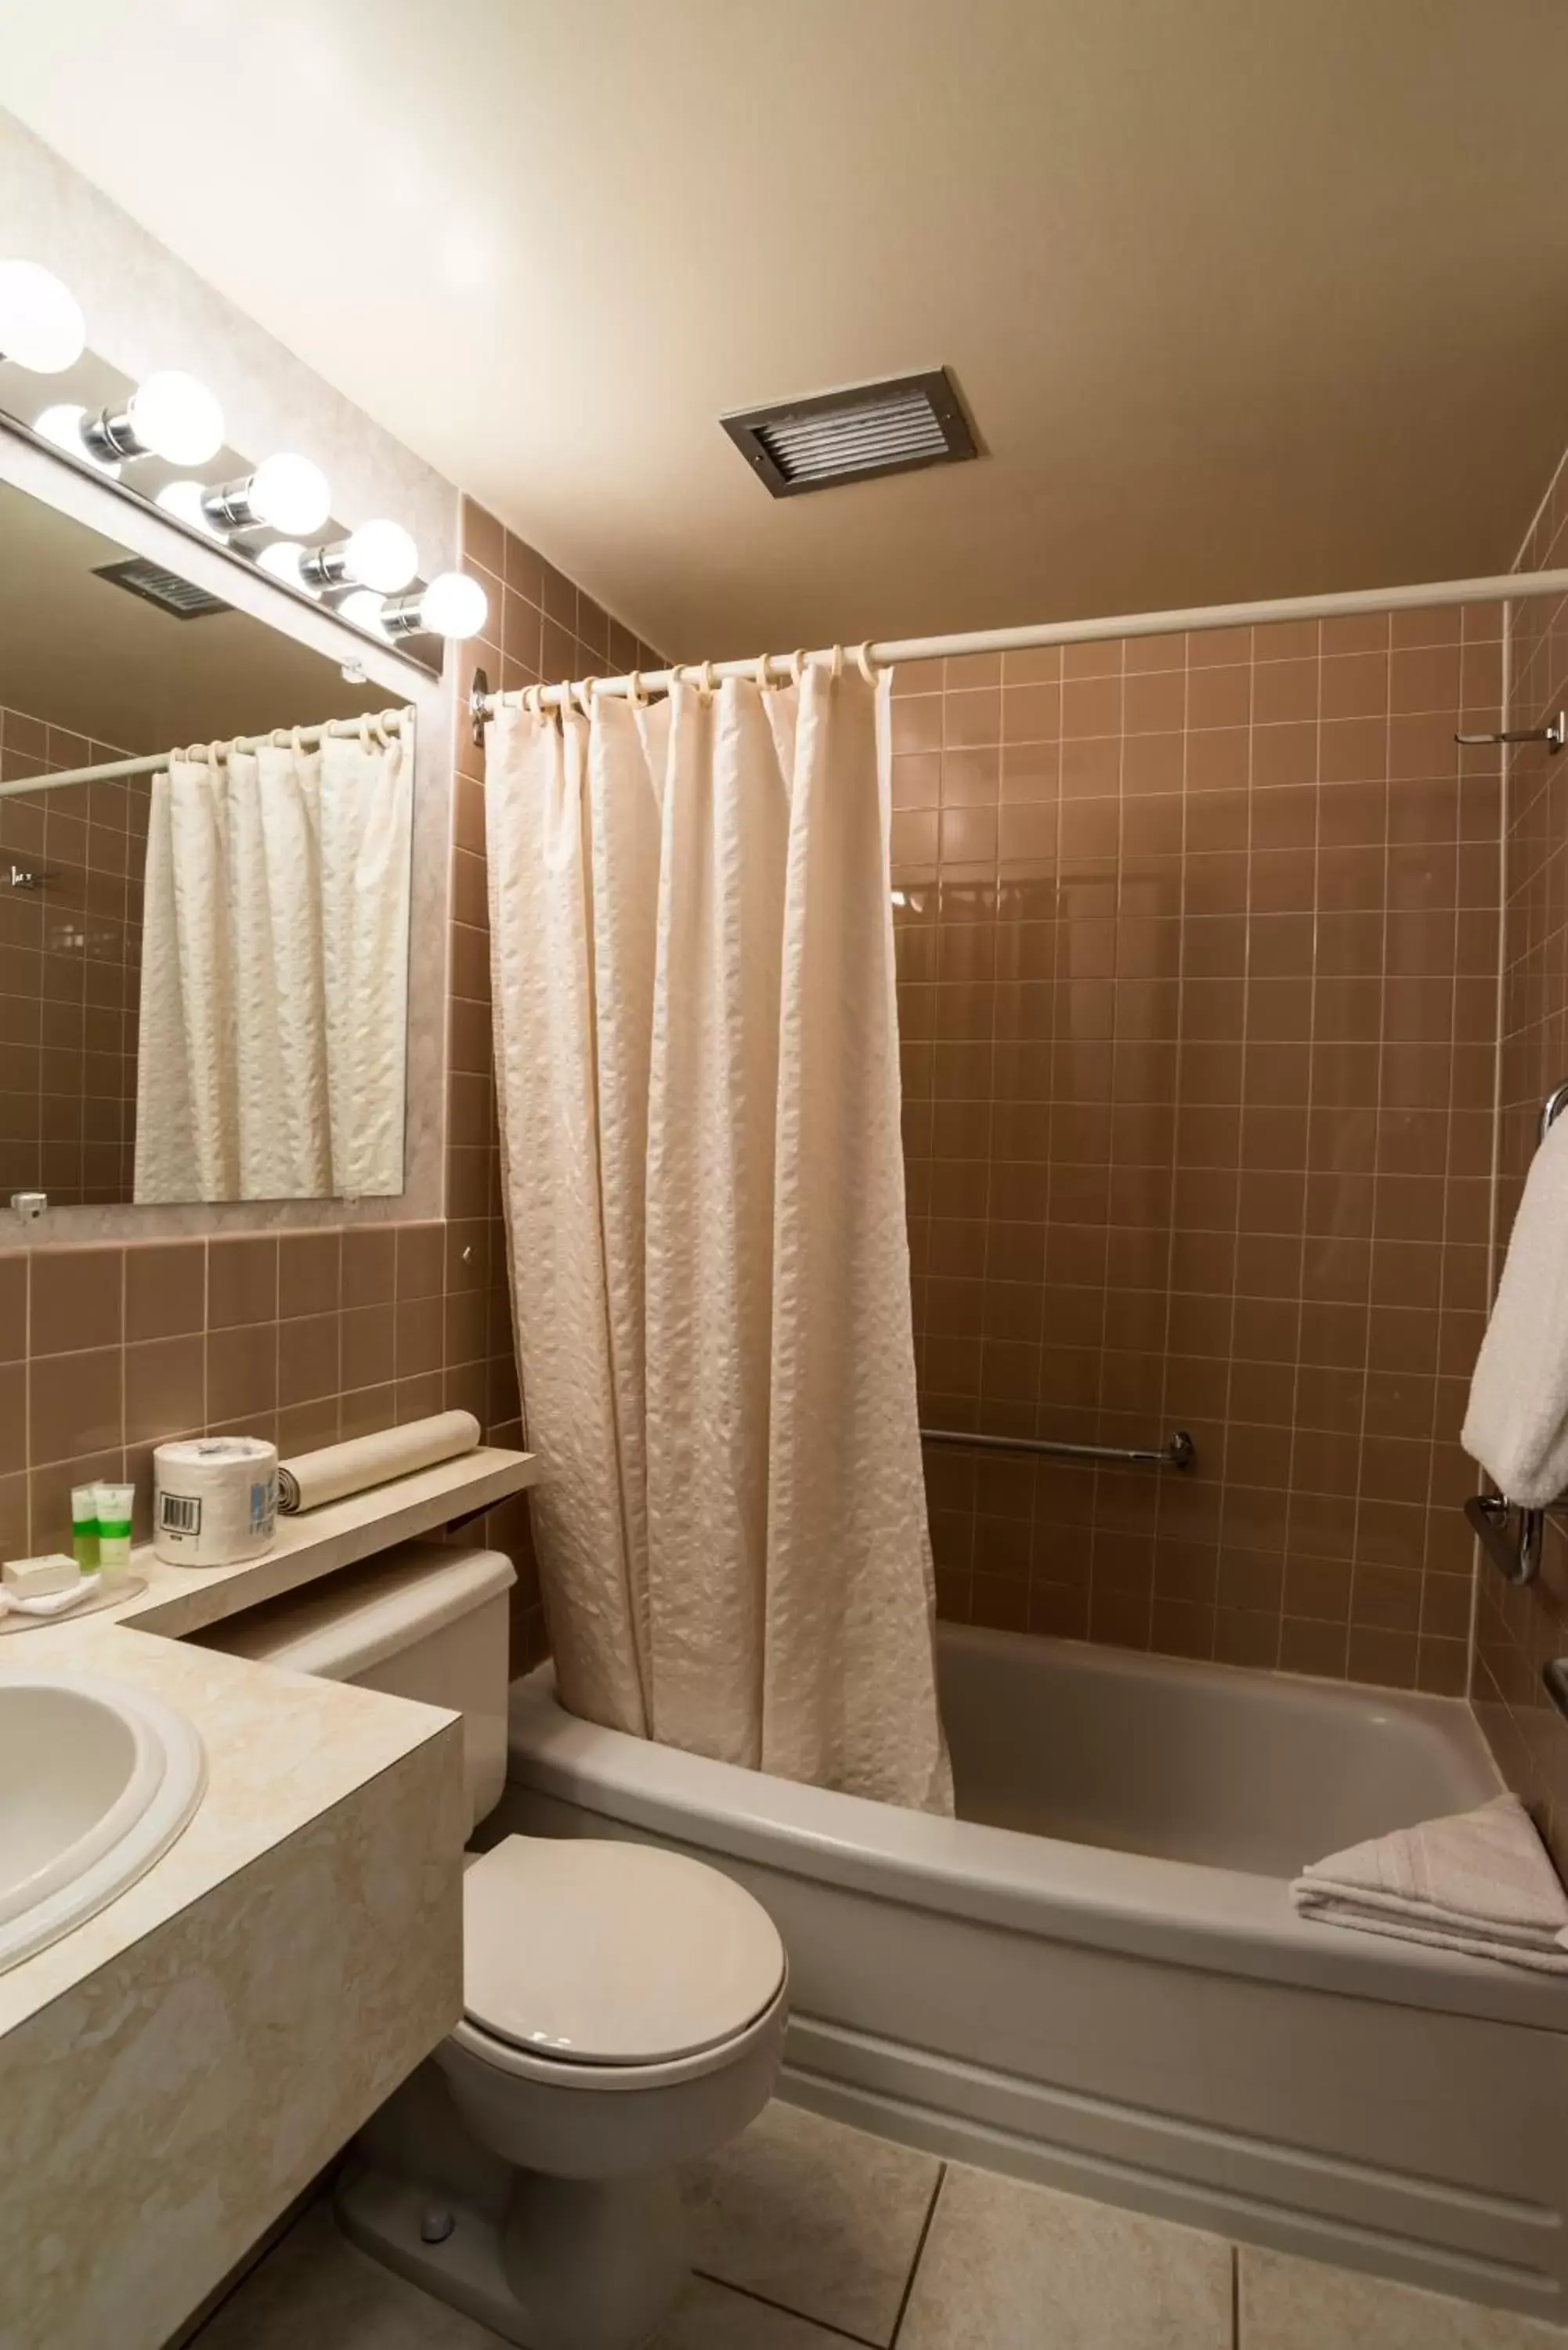
[[950, 1810], [914, 1410], [889, 679], [503, 707], [496, 1072], [562, 1701]]

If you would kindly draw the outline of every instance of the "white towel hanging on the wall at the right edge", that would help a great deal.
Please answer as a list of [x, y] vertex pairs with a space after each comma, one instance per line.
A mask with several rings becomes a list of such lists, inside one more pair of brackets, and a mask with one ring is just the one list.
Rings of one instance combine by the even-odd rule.
[[1460, 1443], [1523, 1509], [1568, 1490], [1568, 1119], [1530, 1161]]

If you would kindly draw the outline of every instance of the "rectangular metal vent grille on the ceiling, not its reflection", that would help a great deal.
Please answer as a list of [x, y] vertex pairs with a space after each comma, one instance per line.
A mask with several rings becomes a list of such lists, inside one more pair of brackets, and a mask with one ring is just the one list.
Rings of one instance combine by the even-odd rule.
[[945, 367], [926, 376], [853, 383], [811, 400], [780, 400], [719, 423], [776, 498], [978, 456]]

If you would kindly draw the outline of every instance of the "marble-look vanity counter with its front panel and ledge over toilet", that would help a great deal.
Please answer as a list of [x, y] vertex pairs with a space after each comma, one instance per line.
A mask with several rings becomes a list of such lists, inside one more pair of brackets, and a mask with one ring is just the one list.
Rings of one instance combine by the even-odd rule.
[[0, 1974], [0, 2350], [160, 2350], [458, 2021], [458, 1716], [181, 1633], [534, 1473], [482, 1448], [284, 1520], [244, 1567], [136, 1551], [118, 1605], [0, 1636], [0, 1687], [118, 1680], [207, 1748], [174, 1845]]

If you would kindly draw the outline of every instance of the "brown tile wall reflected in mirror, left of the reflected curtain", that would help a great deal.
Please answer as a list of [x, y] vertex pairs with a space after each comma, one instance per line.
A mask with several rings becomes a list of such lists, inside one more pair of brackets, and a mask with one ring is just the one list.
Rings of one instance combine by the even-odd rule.
[[[0, 705], [0, 783], [129, 757]], [[0, 799], [0, 1194], [132, 1196], [150, 783]], [[33, 877], [28, 886], [26, 877]]]

